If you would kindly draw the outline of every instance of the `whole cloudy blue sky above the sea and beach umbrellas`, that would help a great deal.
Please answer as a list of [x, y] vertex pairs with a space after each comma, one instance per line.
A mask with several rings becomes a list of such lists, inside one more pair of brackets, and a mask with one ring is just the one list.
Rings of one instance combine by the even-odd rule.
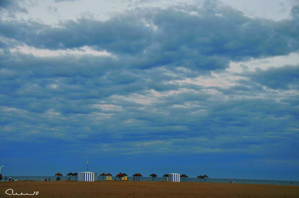
[[299, 180], [298, 5], [1, 0], [1, 173]]

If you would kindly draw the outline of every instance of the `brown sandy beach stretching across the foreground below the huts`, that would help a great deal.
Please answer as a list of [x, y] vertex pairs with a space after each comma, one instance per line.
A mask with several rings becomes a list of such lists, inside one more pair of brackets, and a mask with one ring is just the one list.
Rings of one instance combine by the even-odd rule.
[[[299, 186], [208, 182], [17, 181], [0, 182], [0, 197], [299, 197]], [[38, 195], [7, 195], [13, 193]], [[11, 194], [9, 190], [7, 193]]]

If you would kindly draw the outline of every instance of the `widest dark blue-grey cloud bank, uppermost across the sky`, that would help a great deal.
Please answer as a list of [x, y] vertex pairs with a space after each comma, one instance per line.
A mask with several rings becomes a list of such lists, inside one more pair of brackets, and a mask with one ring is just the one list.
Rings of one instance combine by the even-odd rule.
[[185, 7], [133, 10], [108, 21], [81, 18], [56, 28], [34, 21], [2, 21], [0, 33], [38, 48], [92, 46], [123, 56], [124, 63], [135, 68], [215, 70], [227, 68], [229, 60], [298, 50], [297, 21], [296, 14], [292, 20], [275, 22], [247, 18], [231, 8]]

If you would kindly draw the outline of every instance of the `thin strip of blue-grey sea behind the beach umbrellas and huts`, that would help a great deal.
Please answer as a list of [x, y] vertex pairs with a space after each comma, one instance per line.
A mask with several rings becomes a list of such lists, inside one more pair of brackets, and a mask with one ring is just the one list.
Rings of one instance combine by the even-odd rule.
[[[4, 176], [5, 177], [5, 176]], [[9, 176], [7, 176], [8, 178]], [[51, 181], [55, 181], [57, 176], [13, 176], [14, 179], [20, 180], [28, 180], [28, 181], [45, 181], [47, 178], [51, 178]], [[70, 180], [74, 181], [76, 180], [75, 176], [62, 176], [60, 177], [62, 180]], [[115, 177], [112, 177], [112, 180], [114, 180]], [[106, 178], [99, 176], [98, 181], [105, 180]], [[118, 177], [116, 178], [118, 180]], [[128, 177], [129, 181], [133, 181], [133, 177]], [[137, 181], [152, 181], [152, 177], [135, 177], [135, 180]], [[180, 178], [181, 182], [183, 182], [183, 178]], [[299, 181], [280, 181], [280, 180], [245, 180], [245, 179], [214, 179], [214, 178], [206, 178], [205, 179], [199, 179], [199, 178], [184, 178], [184, 182], [210, 182], [210, 183], [230, 183], [233, 180], [235, 180], [235, 183], [240, 184], [265, 184], [265, 185], [290, 185], [291, 182], [293, 182], [293, 185], [299, 185]], [[1, 180], [2, 182], [4, 180]], [[155, 177], [154, 181], [166, 181], [166, 177]]]

